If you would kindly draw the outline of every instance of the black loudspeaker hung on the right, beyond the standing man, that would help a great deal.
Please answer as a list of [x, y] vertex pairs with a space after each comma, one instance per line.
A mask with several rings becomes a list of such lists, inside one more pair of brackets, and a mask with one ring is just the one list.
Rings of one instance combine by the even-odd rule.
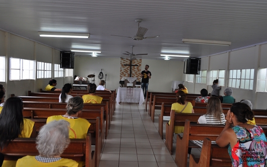
[[188, 58], [184, 62], [184, 73], [199, 74], [200, 73], [200, 58]]

